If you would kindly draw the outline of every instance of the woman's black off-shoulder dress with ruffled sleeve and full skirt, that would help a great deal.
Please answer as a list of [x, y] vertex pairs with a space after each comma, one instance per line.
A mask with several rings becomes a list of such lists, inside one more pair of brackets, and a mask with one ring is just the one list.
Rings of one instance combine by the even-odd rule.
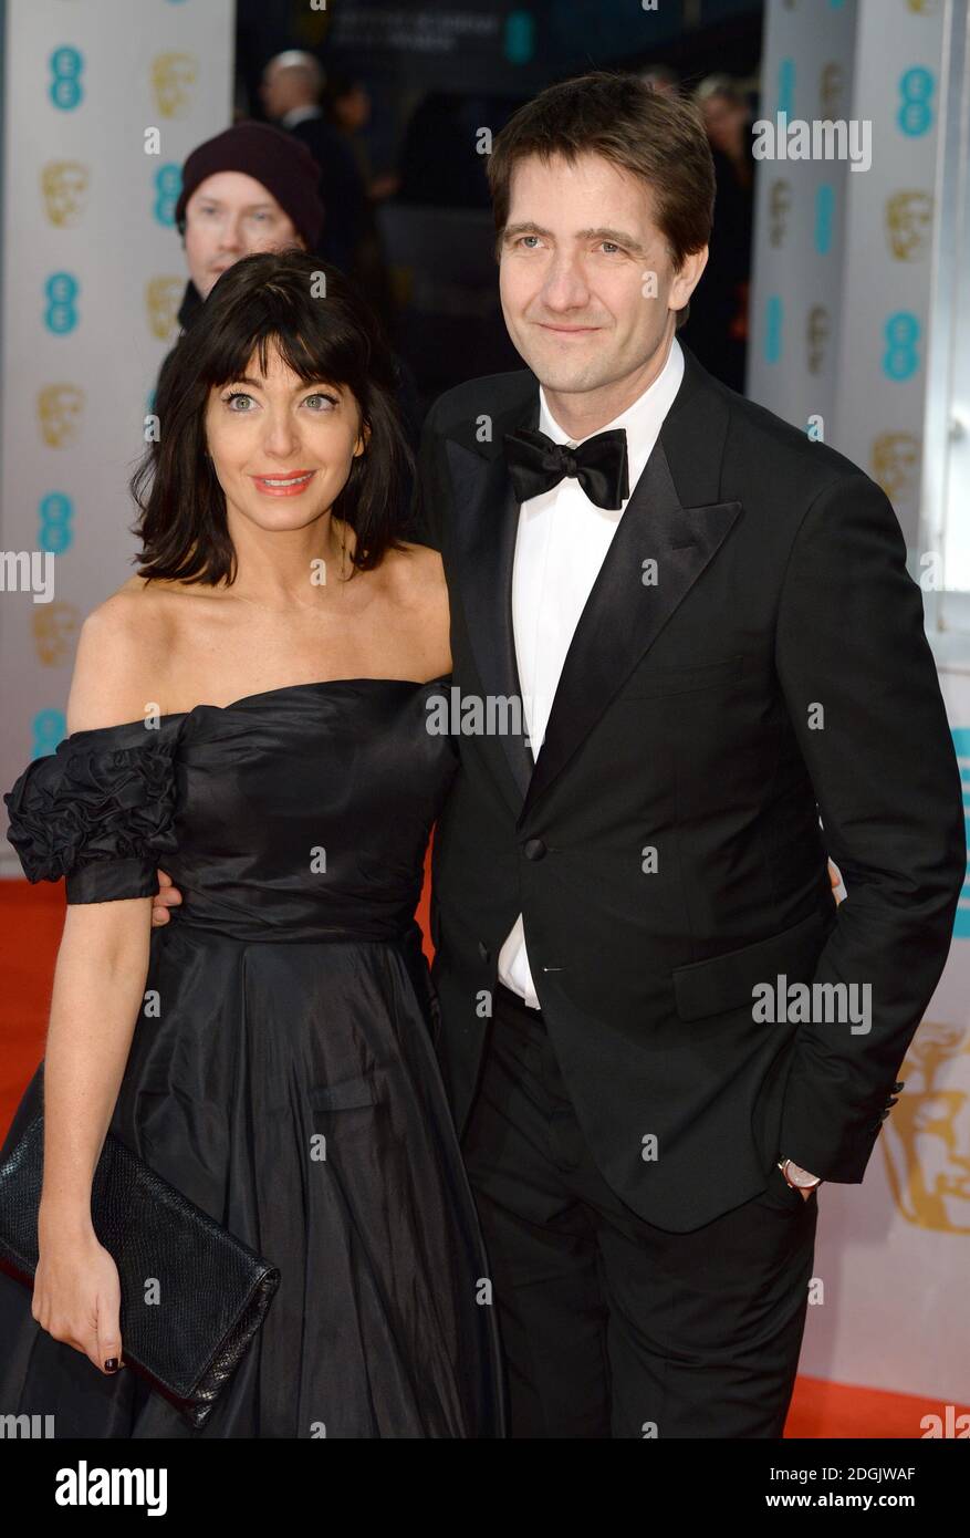
[[[0, 1415], [52, 1415], [65, 1438], [506, 1433], [414, 923], [457, 769], [427, 731], [443, 683], [295, 684], [75, 732], [5, 797], [28, 877], [65, 875], [69, 903], [146, 897], [158, 866], [181, 887], [111, 1130], [281, 1283], [192, 1430], [134, 1372], [42, 1330], [0, 1275]], [[43, 1063], [5, 1154], [42, 1092]]]

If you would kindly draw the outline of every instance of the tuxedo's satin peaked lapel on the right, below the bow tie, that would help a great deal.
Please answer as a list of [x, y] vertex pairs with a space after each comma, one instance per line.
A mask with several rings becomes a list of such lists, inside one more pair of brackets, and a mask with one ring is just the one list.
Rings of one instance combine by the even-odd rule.
[[[650, 649], [739, 514], [739, 501], [681, 506], [661, 432], [620, 518], [566, 654], [520, 823]], [[653, 586], [643, 581], [649, 558], [656, 561]]]

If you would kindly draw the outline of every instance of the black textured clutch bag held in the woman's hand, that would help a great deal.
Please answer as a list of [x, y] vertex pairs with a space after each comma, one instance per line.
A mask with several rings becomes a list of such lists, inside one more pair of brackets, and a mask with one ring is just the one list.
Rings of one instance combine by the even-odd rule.
[[[43, 1115], [0, 1166], [0, 1267], [32, 1286]], [[280, 1286], [280, 1272], [108, 1134], [91, 1189], [98, 1243], [118, 1267], [121, 1357], [200, 1427]], [[145, 1303], [157, 1278], [164, 1306]], [[95, 1369], [92, 1367], [92, 1372]]]

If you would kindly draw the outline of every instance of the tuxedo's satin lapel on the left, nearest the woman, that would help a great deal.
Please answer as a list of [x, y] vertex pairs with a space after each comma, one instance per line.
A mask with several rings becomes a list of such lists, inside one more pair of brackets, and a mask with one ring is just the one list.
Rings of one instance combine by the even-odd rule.
[[[538, 417], [538, 397], [535, 412]], [[503, 429], [506, 431], [506, 429]], [[512, 700], [507, 721], [523, 729], [501, 732], [497, 749], [512, 775], [507, 795], [518, 812], [529, 787], [533, 758], [526, 740], [515, 635], [512, 631], [512, 564], [518, 531], [518, 503], [501, 454], [483, 458], [455, 440], [447, 443], [455, 492], [455, 541], [461, 601], [475, 666], [486, 694]], [[504, 783], [504, 781], [503, 781]]]

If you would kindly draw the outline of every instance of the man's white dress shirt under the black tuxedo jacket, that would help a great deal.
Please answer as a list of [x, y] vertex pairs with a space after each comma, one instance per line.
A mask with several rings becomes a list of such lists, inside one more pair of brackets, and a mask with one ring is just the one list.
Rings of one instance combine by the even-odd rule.
[[[667, 360], [653, 383], [613, 421], [596, 429], [607, 432], [626, 428], [630, 492], [650, 458], [683, 375], [684, 354], [676, 337], [672, 337]], [[576, 440], [563, 432], [549, 411], [541, 384], [538, 428], [553, 443], [576, 448]], [[598, 508], [570, 475], [520, 508], [512, 571], [512, 628], [523, 715], [533, 760], [546, 737], [569, 644], [626, 506], [624, 501], [616, 511]], [[526, 955], [521, 914], [500, 950], [498, 978], [532, 1009], [540, 1007]]]

